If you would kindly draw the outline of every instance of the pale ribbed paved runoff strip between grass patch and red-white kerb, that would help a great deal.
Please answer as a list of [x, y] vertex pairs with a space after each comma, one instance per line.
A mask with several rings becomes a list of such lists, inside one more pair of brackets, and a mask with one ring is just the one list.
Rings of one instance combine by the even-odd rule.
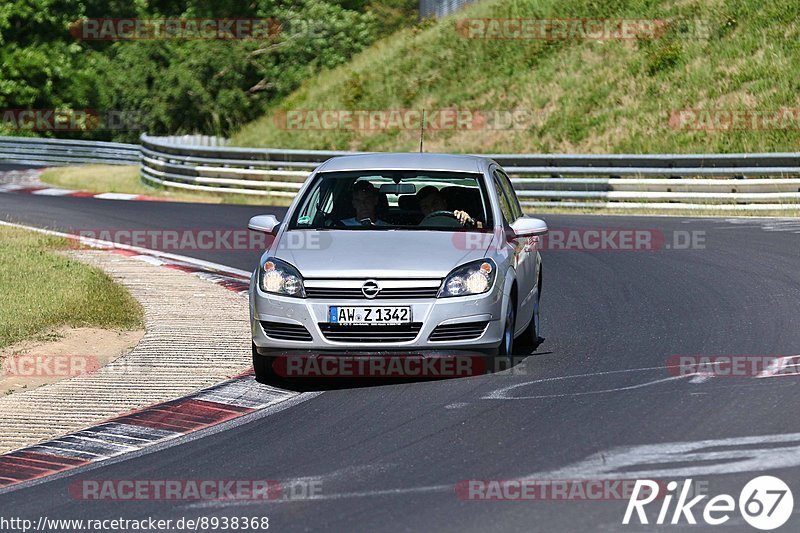
[[246, 298], [135, 257], [68, 253], [127, 287], [144, 307], [147, 331], [129, 354], [97, 371], [0, 398], [0, 453], [189, 394], [249, 368]]

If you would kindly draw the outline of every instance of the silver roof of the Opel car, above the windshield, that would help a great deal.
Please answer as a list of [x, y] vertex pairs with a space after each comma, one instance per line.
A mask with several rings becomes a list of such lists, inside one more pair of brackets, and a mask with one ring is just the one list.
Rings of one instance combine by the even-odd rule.
[[448, 172], [483, 172], [490, 159], [474, 155], [435, 153], [375, 153], [345, 155], [325, 161], [319, 172], [350, 170], [439, 170]]

